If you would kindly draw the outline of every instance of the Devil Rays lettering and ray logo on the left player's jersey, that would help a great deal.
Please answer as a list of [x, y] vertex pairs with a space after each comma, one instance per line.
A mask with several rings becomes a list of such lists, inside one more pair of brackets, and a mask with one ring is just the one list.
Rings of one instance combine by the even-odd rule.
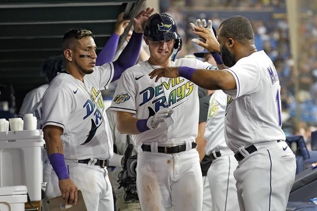
[[95, 99], [98, 99], [98, 100], [97, 100], [97, 103], [95, 103], [91, 99], [87, 99], [87, 101], [83, 105], [83, 108], [86, 109], [86, 115], [83, 117], [83, 119], [88, 118], [92, 114], [93, 114], [93, 118], [91, 118], [91, 129], [87, 134], [87, 138], [80, 145], [85, 145], [89, 143], [95, 136], [97, 129], [100, 127], [102, 123], [100, 111], [103, 113], [104, 103], [103, 103], [101, 92], [99, 90], [97, 91], [95, 87], [93, 87], [91, 89], [91, 94], [95, 97]]

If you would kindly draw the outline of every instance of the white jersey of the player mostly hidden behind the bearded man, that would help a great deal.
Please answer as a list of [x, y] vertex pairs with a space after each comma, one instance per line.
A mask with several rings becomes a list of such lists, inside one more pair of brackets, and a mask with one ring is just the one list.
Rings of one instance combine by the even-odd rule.
[[227, 95], [216, 90], [210, 97], [207, 123], [204, 138], [207, 140], [205, 153], [209, 155], [214, 150], [228, 148], [224, 139], [224, 114], [227, 106]]

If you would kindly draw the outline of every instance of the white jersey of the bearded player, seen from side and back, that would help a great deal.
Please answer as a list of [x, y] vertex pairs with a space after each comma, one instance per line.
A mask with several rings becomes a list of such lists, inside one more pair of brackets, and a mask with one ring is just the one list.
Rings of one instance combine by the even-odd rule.
[[280, 85], [272, 60], [264, 51], [241, 58], [227, 69], [237, 89], [227, 99], [225, 139], [232, 151], [259, 142], [285, 140], [281, 129]]

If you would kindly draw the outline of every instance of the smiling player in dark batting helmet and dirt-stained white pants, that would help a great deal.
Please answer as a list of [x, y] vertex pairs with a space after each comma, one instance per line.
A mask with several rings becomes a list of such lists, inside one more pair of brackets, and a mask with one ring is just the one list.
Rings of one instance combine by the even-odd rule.
[[141, 209], [201, 211], [202, 176], [195, 149], [198, 87], [182, 77], [154, 81], [148, 74], [158, 67], [216, 67], [196, 58], [173, 61], [181, 48], [181, 38], [169, 15], [152, 15], [145, 26], [144, 40], [150, 58], [122, 74], [111, 105], [111, 110], [117, 112], [118, 130], [136, 134]]

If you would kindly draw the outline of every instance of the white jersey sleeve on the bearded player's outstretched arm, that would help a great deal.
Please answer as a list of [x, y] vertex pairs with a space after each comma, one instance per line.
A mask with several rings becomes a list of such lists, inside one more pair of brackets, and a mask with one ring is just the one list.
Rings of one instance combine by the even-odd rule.
[[258, 90], [260, 78], [258, 66], [249, 58], [240, 59], [233, 67], [226, 69], [236, 80], [236, 90], [223, 90], [234, 99], [239, 96], [249, 95]]

